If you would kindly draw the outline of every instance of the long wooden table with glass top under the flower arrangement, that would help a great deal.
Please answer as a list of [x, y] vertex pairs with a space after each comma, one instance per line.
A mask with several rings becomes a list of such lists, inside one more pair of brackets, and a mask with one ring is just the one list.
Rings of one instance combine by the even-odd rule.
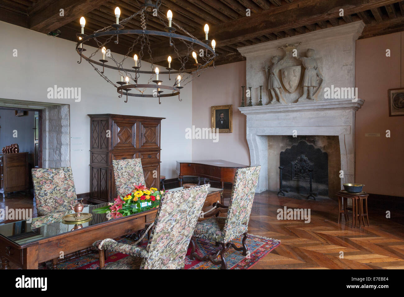
[[[218, 200], [221, 201], [220, 193], [222, 191], [215, 188], [209, 190], [203, 206], [204, 211], [212, 208], [212, 204]], [[105, 205], [86, 206], [83, 212], [91, 213], [92, 209]], [[72, 230], [74, 225], [66, 225], [62, 223], [61, 219], [44, 223], [40, 227], [34, 226], [33, 229], [30, 226], [35, 219], [32, 223], [19, 221], [0, 225], [1, 268], [10, 268], [9, 262], [12, 262], [23, 269], [38, 269], [39, 263], [57, 259], [61, 252], [67, 255], [86, 249], [97, 240], [135, 233], [143, 229], [146, 223], [154, 221], [157, 210], [151, 209], [112, 220], [108, 220], [106, 214], [93, 213], [93, 219], [83, 223], [82, 228], [77, 230]], [[44, 217], [38, 219], [43, 220], [42, 218]], [[17, 225], [24, 232], [14, 234], [18, 232]], [[55, 230], [59, 230], [59, 232], [55, 232]]]

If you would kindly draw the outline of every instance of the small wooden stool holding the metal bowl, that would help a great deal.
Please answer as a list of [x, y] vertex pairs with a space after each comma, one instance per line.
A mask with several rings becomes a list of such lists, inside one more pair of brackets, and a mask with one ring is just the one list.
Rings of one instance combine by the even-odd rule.
[[[365, 215], [366, 217], [368, 216], [368, 207], [367, 207], [367, 197], [369, 194], [366, 194], [365, 192], [362, 192], [361, 194], [355, 194], [355, 193], [348, 193], [346, 191], [340, 191], [337, 193], [338, 197], [338, 223], [340, 220], [340, 217], [342, 214], [345, 216], [345, 221], [348, 221], [348, 210], [352, 211], [352, 225], [351, 228], [353, 228], [353, 221], [355, 221], [355, 228], [356, 228], [356, 223], [359, 218], [359, 227], [360, 227], [360, 219], [363, 218]], [[347, 207], [348, 204], [348, 198], [352, 199], [352, 208]], [[363, 214], [363, 203], [362, 200], [365, 199], [366, 201], [366, 214]], [[341, 209], [341, 203], [343, 204], [343, 209]], [[363, 219], [364, 220], [364, 219]], [[363, 223], [365, 225], [365, 222]]]

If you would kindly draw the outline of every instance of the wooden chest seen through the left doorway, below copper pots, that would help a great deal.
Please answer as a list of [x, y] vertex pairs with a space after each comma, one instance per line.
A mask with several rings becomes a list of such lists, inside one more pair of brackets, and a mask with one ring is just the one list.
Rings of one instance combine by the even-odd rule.
[[0, 154], [0, 193], [3, 197], [28, 187], [28, 153]]

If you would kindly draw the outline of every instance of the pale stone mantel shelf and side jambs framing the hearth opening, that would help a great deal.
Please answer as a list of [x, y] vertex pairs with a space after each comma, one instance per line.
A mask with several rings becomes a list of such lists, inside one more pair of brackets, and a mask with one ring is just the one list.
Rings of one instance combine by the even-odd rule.
[[[278, 170], [268, 172], [268, 136], [270, 135], [335, 135], [339, 137], [343, 183], [354, 182], [355, 174], [355, 112], [364, 103], [339, 99], [294, 104], [239, 107], [247, 116], [247, 142], [251, 165], [260, 164], [257, 192], [278, 187]], [[270, 181], [276, 177], [276, 181]]]

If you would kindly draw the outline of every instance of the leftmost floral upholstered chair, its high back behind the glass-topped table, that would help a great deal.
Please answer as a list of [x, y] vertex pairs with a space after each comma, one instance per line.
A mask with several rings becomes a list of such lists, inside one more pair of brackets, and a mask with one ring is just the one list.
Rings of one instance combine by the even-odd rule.
[[68, 211], [77, 199], [72, 167], [34, 168], [31, 172], [38, 216]]

